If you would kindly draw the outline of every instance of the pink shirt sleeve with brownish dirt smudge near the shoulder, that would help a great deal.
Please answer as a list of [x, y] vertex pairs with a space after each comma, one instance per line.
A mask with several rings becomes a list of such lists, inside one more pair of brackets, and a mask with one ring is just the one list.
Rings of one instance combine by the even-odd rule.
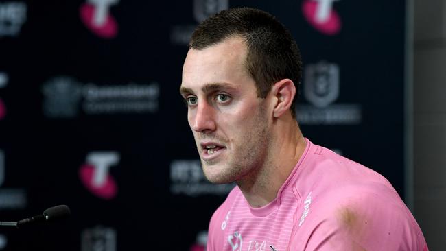
[[357, 193], [331, 208], [313, 225], [305, 250], [427, 250], [412, 213], [395, 195]]

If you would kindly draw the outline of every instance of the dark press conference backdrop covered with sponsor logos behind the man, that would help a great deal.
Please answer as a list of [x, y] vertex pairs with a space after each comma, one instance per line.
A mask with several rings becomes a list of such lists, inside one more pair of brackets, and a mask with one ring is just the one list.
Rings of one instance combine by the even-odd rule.
[[303, 134], [404, 194], [405, 1], [0, 1], [0, 250], [203, 250], [233, 184], [202, 175], [178, 93], [210, 14], [274, 14], [301, 49]]

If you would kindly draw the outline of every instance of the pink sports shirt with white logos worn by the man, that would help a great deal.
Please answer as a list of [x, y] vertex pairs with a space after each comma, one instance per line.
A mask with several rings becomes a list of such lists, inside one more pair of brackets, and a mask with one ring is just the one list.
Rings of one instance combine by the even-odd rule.
[[428, 249], [386, 178], [307, 139], [270, 204], [252, 208], [235, 187], [215, 211], [207, 251], [226, 250]]

